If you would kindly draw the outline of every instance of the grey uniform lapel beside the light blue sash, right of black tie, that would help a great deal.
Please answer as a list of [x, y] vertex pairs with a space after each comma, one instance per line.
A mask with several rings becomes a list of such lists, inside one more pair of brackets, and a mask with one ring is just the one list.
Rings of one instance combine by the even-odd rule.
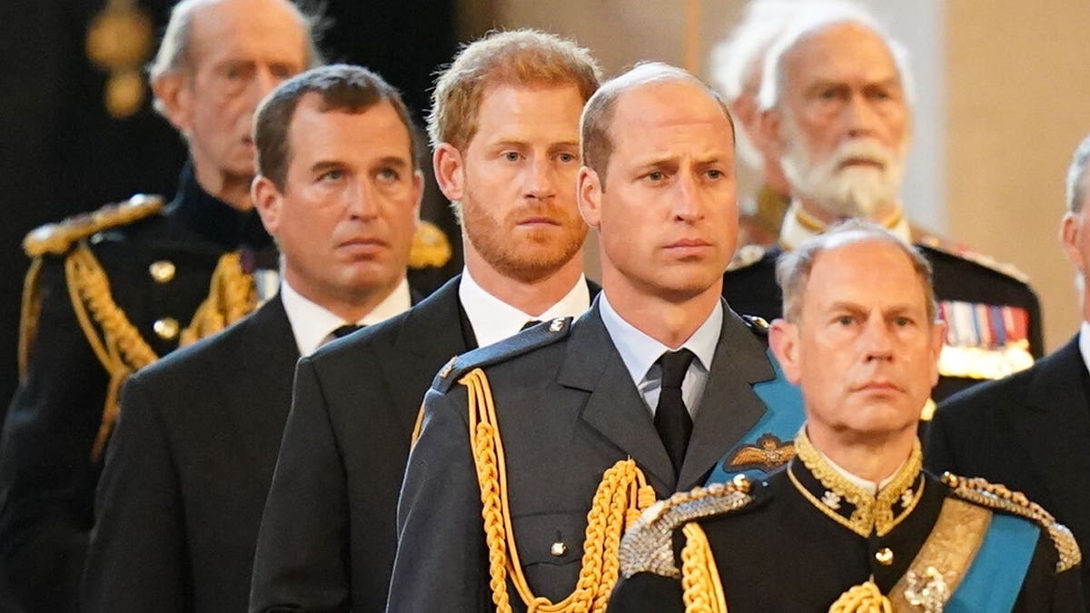
[[775, 377], [763, 345], [725, 304], [723, 329], [708, 374], [681, 465], [679, 491], [703, 485], [704, 476], [715, 462], [756, 424], [765, 407], [752, 386]]

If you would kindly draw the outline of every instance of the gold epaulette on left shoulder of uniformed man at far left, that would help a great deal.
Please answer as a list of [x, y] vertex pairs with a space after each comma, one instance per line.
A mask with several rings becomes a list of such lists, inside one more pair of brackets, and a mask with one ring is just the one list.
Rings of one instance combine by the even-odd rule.
[[108, 204], [93, 213], [83, 213], [58, 224], [39, 226], [23, 239], [23, 251], [31, 257], [47, 253], [60, 255], [66, 253], [72, 243], [81, 239], [108, 228], [149, 217], [160, 212], [162, 206], [164, 201], [159, 196], [136, 194], [124, 202]]

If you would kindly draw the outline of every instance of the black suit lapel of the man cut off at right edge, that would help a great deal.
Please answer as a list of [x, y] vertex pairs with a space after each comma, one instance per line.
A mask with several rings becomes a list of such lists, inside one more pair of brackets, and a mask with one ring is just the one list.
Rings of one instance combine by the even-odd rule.
[[[1079, 352], [1078, 335], [1055, 353], [1037, 363], [1033, 381], [1026, 393], [1026, 410], [1007, 416], [1026, 445], [1050, 493], [1054, 510], [1067, 521], [1080, 518], [1090, 504], [1090, 493], [1071, 476], [1090, 474], [1090, 407], [1082, 387], [1086, 365]], [[1022, 407], [1016, 406], [1016, 409]]]

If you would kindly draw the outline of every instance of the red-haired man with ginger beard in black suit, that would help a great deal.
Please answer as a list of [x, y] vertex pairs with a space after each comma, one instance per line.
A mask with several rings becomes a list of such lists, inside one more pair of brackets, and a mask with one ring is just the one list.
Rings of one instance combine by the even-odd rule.
[[582, 313], [586, 226], [574, 201], [585, 49], [531, 31], [469, 45], [438, 79], [428, 131], [462, 220], [465, 269], [428, 300], [300, 361], [262, 519], [251, 611], [386, 605], [413, 425], [444, 362]]

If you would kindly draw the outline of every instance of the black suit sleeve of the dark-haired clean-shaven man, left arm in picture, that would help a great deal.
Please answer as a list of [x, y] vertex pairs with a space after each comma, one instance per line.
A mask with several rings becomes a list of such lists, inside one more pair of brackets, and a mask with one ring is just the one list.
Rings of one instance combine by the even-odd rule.
[[121, 406], [96, 497], [81, 611], [181, 612], [192, 577], [170, 444], [140, 375], [125, 384]]

